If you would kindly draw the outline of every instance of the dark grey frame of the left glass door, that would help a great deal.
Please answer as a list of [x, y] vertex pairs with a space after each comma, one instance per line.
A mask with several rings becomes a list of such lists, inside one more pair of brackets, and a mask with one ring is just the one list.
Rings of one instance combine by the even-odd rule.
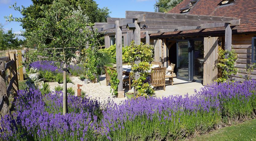
[[[178, 50], [178, 42], [180, 42], [180, 41], [187, 41], [188, 42], [188, 79], [186, 79], [186, 78], [180, 78], [180, 77], [178, 77], [179, 76], [179, 71], [178, 71], [178, 66], [179, 66], [179, 50]], [[177, 77], [177, 79], [181, 79], [181, 80], [185, 80], [185, 81], [191, 81], [192, 79], [191, 79], [191, 77], [192, 77], [192, 64], [191, 64], [191, 55], [192, 55], [192, 53], [191, 53], [191, 44], [190, 44], [190, 40], [176, 40], [176, 48], [177, 48], [177, 67], [176, 67], [176, 69], [177, 69], [177, 75], [176, 75], [176, 77]]]

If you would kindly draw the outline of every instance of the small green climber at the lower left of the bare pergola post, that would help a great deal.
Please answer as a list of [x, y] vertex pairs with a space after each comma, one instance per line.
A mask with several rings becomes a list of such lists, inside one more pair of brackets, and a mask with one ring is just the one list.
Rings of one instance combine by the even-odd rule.
[[111, 70], [109, 67], [107, 67], [107, 73], [110, 76], [110, 84], [111, 84], [110, 93], [112, 93], [112, 95], [114, 95], [114, 96], [117, 96], [118, 95], [118, 84], [119, 84], [117, 71]]

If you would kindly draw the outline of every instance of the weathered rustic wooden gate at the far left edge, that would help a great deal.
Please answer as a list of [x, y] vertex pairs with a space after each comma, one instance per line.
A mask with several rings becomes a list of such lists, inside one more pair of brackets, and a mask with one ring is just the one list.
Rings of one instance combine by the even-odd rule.
[[10, 51], [9, 55], [0, 58], [0, 118], [10, 112], [9, 97], [16, 97], [18, 91], [15, 51]]

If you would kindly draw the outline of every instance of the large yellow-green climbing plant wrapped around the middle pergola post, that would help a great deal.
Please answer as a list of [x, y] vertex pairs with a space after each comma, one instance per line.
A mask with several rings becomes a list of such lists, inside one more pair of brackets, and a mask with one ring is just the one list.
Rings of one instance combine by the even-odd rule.
[[[128, 62], [131, 65], [131, 77], [133, 79], [132, 86], [137, 90], [136, 97], [148, 96], [154, 93], [153, 87], [150, 83], [149, 70], [151, 65], [149, 62], [153, 61], [153, 46], [148, 44], [135, 44], [131, 42], [128, 47], [129, 51], [125, 54], [128, 58]], [[136, 61], [140, 63], [135, 64]], [[136, 73], [140, 76], [138, 80], [135, 80]]]

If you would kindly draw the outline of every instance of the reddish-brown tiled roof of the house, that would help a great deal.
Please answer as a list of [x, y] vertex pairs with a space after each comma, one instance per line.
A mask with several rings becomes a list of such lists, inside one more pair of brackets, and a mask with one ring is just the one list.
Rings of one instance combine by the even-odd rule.
[[[186, 7], [191, 0], [183, 0], [174, 7], [169, 13], [180, 13], [180, 9]], [[198, 0], [196, 5], [188, 14], [237, 17], [240, 18], [240, 25], [235, 26], [232, 32], [256, 32], [256, 1], [255, 0], [235, 0], [231, 5], [219, 6], [221, 0]], [[188, 34], [194, 32], [216, 32], [224, 30], [223, 28], [212, 28], [205, 30], [190, 30], [183, 32], [167, 32], [161, 35]], [[159, 36], [160, 34], [151, 34], [150, 36]]]

